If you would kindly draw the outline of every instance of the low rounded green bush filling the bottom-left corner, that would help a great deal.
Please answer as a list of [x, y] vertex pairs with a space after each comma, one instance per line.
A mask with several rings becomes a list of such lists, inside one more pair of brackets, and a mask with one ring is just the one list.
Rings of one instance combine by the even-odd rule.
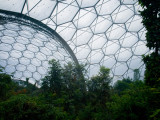
[[2, 120], [66, 120], [66, 113], [60, 108], [40, 103], [26, 95], [17, 95], [0, 103]]

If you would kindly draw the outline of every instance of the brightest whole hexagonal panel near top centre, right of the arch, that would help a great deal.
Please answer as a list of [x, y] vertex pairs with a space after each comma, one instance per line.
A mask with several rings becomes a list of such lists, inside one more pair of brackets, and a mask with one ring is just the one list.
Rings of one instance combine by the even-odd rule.
[[83, 28], [89, 26], [96, 16], [96, 12], [93, 8], [81, 9], [73, 21], [77, 28]]

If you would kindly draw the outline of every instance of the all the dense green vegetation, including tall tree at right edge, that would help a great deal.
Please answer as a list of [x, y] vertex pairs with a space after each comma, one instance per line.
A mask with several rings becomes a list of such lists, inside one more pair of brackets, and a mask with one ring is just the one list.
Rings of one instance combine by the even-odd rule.
[[153, 49], [143, 56], [144, 81], [136, 69], [133, 80], [111, 86], [108, 68], [88, 80], [83, 65], [62, 67], [52, 60], [38, 88], [29, 79], [16, 83], [0, 69], [0, 120], [160, 120], [160, 1], [139, 2], [147, 46]]

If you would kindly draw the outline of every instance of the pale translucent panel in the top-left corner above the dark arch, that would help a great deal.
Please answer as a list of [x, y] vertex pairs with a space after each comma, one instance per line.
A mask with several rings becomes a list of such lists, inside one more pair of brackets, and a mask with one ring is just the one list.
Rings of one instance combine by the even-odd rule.
[[0, 0], [0, 8], [9, 11], [21, 12], [25, 0]]

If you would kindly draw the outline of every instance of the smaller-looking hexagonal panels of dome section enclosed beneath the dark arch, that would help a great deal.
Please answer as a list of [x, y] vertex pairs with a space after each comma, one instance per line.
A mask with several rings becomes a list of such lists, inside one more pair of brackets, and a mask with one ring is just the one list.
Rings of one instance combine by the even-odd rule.
[[42, 31], [30, 27], [31, 32], [27, 30], [28, 26], [18, 23], [14, 23], [18, 29], [12, 29], [12, 32], [11, 23], [0, 26], [4, 28], [0, 39], [0, 65], [15, 79], [39, 81], [47, 74], [51, 57], [62, 64], [72, 61], [64, 46]]

